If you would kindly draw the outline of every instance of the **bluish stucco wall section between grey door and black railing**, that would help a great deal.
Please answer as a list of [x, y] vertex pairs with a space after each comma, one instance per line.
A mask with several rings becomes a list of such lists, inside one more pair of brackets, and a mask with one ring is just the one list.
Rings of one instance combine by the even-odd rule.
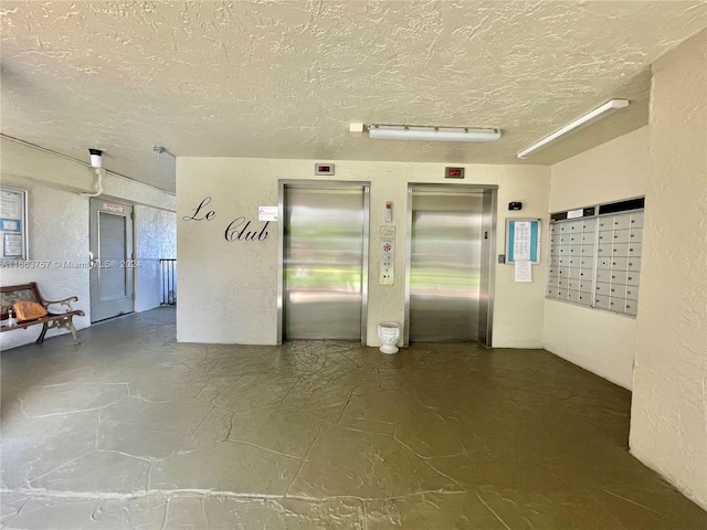
[[175, 212], [135, 206], [135, 248], [140, 266], [135, 272], [135, 310], [146, 311], [162, 301], [160, 258], [177, 257]]

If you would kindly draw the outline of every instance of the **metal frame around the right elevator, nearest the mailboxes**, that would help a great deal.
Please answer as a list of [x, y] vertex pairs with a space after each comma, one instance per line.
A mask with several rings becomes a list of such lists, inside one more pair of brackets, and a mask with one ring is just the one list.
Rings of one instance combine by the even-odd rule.
[[412, 263], [412, 195], [414, 190], [437, 193], [478, 193], [483, 192], [482, 213], [482, 285], [478, 306], [477, 341], [488, 348], [493, 339], [494, 285], [496, 274], [496, 215], [497, 186], [484, 184], [426, 184], [408, 183], [408, 212], [405, 226], [405, 316], [403, 322], [403, 346], [410, 346], [410, 268]]

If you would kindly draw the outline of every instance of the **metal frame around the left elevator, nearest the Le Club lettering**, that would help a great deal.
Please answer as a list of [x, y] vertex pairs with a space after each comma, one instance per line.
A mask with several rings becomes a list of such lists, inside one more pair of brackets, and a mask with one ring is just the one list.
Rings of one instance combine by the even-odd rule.
[[361, 343], [366, 344], [368, 333], [368, 258], [370, 246], [370, 189], [371, 183], [365, 181], [329, 181], [329, 180], [289, 180], [277, 181], [277, 343], [282, 344], [285, 333], [284, 280], [285, 280], [285, 188], [309, 188], [336, 190], [340, 188], [360, 188], [363, 192], [363, 233], [361, 263]]

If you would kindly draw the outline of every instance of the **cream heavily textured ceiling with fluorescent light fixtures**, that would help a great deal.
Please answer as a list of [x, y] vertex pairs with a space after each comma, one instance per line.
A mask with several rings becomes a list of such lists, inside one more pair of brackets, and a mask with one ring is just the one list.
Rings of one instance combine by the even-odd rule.
[[[173, 191], [176, 156], [553, 163], [647, 123], [683, 1], [1, 1], [2, 134]], [[612, 97], [632, 105], [526, 162]], [[351, 121], [498, 127], [371, 140]]]

